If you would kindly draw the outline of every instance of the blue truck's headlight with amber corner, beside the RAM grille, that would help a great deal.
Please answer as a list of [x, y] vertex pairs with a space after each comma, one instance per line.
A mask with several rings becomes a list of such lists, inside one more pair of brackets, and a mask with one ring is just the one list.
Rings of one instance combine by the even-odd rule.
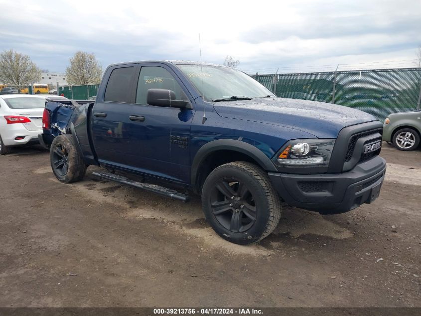
[[334, 139], [295, 139], [279, 151], [277, 161], [282, 166], [327, 166]]

